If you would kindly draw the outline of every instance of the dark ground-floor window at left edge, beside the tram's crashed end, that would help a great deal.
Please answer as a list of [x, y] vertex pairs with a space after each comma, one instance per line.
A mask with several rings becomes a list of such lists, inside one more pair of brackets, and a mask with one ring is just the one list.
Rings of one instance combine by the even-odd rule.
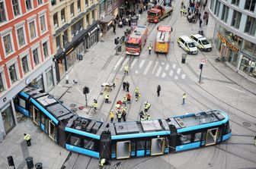
[[13, 117], [13, 112], [11, 108], [11, 103], [8, 104], [5, 108], [3, 108], [3, 111], [1, 114], [4, 122], [4, 126], [5, 126], [5, 131], [6, 133], [8, 133], [8, 131], [10, 131], [11, 128], [14, 126], [14, 117]]

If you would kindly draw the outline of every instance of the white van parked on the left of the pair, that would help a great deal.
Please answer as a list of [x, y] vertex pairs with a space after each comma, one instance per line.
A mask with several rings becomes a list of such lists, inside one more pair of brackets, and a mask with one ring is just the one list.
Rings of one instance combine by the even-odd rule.
[[180, 36], [178, 38], [178, 45], [183, 48], [188, 54], [197, 54], [197, 46], [195, 42], [188, 36]]

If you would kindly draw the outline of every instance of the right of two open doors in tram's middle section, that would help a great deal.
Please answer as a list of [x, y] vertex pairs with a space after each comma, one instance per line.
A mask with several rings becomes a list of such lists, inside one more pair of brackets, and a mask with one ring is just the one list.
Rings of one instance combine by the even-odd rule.
[[165, 152], [165, 138], [152, 139], [151, 155], [162, 155]]

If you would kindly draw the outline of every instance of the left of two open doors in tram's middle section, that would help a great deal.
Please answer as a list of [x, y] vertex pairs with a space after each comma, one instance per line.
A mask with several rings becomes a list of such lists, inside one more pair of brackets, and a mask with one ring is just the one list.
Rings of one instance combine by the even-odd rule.
[[117, 159], [130, 158], [131, 142], [117, 142]]

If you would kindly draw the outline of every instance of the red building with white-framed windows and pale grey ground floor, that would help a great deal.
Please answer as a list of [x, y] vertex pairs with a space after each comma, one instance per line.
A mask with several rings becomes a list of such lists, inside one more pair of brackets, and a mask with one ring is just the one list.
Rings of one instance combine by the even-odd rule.
[[0, 0], [0, 139], [18, 123], [14, 97], [56, 83], [47, 0]]

